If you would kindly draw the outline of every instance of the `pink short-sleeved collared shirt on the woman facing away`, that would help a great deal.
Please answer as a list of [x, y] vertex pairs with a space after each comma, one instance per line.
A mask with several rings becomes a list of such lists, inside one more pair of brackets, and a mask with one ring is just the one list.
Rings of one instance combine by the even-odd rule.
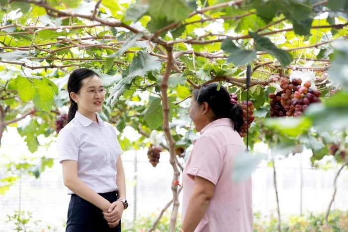
[[215, 185], [214, 196], [195, 232], [252, 232], [252, 181], [232, 179], [232, 163], [246, 147], [231, 120], [218, 119], [201, 130], [183, 169], [182, 219], [193, 190], [194, 177]]

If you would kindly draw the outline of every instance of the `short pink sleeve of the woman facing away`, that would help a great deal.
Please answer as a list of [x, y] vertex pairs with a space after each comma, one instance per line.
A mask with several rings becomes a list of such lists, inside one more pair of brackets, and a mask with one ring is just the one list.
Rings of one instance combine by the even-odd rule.
[[218, 141], [202, 135], [194, 144], [187, 170], [189, 177], [199, 176], [216, 185], [223, 166], [223, 157]]

